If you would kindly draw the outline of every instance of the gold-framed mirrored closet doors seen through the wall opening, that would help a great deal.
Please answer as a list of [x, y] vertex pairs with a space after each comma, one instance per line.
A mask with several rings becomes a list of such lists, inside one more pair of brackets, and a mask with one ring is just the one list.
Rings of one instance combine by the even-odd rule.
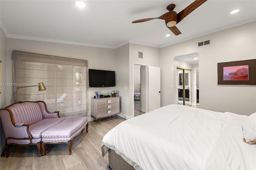
[[179, 105], [191, 106], [191, 70], [177, 67], [177, 92]]

